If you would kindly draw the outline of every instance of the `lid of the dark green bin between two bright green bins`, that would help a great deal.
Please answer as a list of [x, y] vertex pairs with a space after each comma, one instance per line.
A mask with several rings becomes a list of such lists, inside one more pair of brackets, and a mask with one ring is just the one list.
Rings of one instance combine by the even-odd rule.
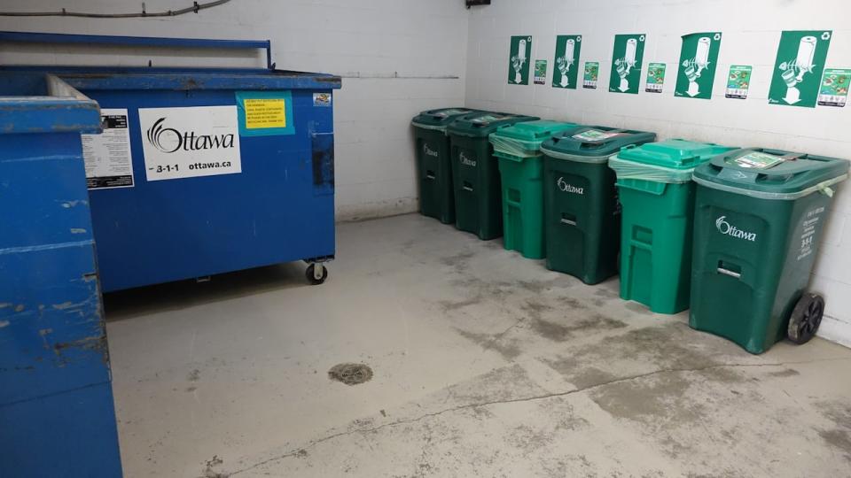
[[541, 145], [541, 150], [557, 158], [558, 153], [608, 158], [625, 146], [650, 143], [654, 139], [656, 134], [646, 131], [580, 126], [554, 135]]

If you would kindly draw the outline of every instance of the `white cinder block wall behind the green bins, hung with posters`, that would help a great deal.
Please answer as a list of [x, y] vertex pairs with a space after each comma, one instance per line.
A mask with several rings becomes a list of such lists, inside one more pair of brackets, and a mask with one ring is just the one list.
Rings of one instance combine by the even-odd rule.
[[[851, 158], [851, 106], [815, 109], [769, 105], [771, 70], [782, 30], [832, 29], [828, 67], [851, 67], [847, 0], [494, 0], [471, 10], [466, 105], [584, 124], [629, 127], [660, 138], [688, 138]], [[723, 33], [711, 100], [674, 96], [681, 35]], [[608, 92], [615, 34], [646, 34], [638, 95]], [[597, 89], [509, 85], [511, 35], [532, 35], [532, 58], [548, 61], [556, 35], [582, 35], [582, 58], [599, 61]], [[646, 64], [668, 64], [662, 94], [644, 93]], [[731, 64], [752, 65], [746, 100], [724, 97]], [[530, 74], [531, 76], [531, 74]], [[582, 69], [580, 70], [580, 80]], [[530, 78], [531, 81], [531, 78]], [[822, 335], [851, 345], [851, 184], [839, 192], [811, 289], [827, 298]]]

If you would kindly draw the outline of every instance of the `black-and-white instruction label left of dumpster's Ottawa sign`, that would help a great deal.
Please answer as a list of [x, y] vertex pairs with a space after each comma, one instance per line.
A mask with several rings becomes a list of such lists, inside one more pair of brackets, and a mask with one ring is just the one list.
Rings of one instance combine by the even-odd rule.
[[80, 135], [89, 189], [132, 188], [133, 160], [127, 110], [100, 110], [100, 135]]

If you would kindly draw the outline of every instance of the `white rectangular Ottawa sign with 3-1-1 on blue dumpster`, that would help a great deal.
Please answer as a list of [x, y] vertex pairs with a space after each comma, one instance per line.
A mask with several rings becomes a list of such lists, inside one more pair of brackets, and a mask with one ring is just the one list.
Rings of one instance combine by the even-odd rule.
[[140, 108], [148, 181], [242, 173], [237, 107]]

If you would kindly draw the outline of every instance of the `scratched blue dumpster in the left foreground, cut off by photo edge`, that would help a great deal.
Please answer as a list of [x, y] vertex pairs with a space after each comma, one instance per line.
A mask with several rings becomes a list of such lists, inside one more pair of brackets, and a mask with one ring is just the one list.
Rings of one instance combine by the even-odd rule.
[[81, 133], [98, 104], [0, 73], [0, 476], [121, 476]]

